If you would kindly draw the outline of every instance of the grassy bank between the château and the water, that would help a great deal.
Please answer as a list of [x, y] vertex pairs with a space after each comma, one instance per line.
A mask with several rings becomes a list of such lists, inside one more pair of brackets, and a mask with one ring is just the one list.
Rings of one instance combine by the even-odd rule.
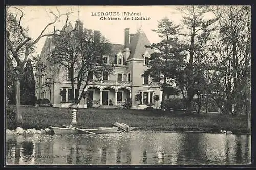
[[[15, 109], [14, 106], [12, 108]], [[22, 116], [25, 129], [69, 125], [72, 118], [71, 110], [67, 108], [33, 106], [22, 106]], [[166, 113], [160, 110], [78, 109], [77, 121], [77, 127], [110, 127], [120, 122], [138, 127], [138, 130], [219, 132], [225, 129], [234, 133], [247, 132], [245, 115], [219, 113], [185, 115], [184, 112]], [[10, 120], [7, 120], [7, 128], [13, 129], [10, 125]]]

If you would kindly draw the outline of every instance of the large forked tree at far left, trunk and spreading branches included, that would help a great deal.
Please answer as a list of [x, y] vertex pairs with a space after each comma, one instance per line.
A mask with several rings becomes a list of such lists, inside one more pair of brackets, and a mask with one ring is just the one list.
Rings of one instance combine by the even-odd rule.
[[[15, 14], [10, 11], [14, 10]], [[58, 9], [57, 9], [58, 11]], [[7, 56], [14, 58], [16, 69], [15, 69], [15, 95], [16, 95], [16, 116], [17, 125], [21, 126], [23, 123], [22, 114], [20, 113], [20, 76], [23, 72], [25, 63], [31, 52], [33, 51], [34, 45], [42, 38], [49, 34], [45, 34], [46, 29], [53, 25], [57, 19], [63, 15], [54, 14], [52, 11], [49, 12], [53, 16], [53, 21], [48, 23], [44, 29], [40, 32], [37, 38], [33, 39], [28, 35], [28, 29], [24, 29], [22, 26], [22, 20], [24, 18], [24, 13], [22, 9], [18, 7], [7, 7], [6, 8], [6, 31], [5, 40], [7, 46]]]

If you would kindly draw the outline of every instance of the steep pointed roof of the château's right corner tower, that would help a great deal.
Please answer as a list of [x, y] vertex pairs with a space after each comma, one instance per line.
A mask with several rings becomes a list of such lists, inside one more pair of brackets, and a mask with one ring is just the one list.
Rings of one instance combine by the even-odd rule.
[[153, 50], [151, 50], [151, 48], [146, 48], [145, 45], [151, 45], [150, 41], [147, 39], [146, 34], [143, 31], [137, 31], [128, 46], [131, 50], [128, 59], [143, 59], [142, 55], [145, 53], [146, 49], [148, 53], [153, 53]]

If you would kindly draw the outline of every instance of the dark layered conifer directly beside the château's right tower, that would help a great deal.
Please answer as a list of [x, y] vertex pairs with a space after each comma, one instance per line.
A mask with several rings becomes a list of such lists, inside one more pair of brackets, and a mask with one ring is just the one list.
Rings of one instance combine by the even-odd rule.
[[172, 88], [175, 83], [174, 71], [182, 67], [183, 63], [178, 61], [183, 60], [184, 55], [181, 45], [177, 42], [178, 25], [174, 25], [168, 18], [163, 18], [158, 21], [158, 29], [152, 31], [158, 33], [162, 41], [146, 46], [154, 49], [155, 52], [151, 54], [148, 69], [144, 74], [150, 74], [153, 82], [160, 85], [163, 91], [161, 109], [164, 109], [164, 96], [167, 94], [167, 89]]

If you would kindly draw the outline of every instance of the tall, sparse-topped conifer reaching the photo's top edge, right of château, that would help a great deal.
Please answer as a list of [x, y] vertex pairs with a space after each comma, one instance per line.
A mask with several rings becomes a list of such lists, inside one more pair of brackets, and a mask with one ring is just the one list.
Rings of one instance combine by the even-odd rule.
[[[189, 43], [185, 42], [188, 51], [188, 63], [184, 69], [184, 83], [180, 83], [180, 89], [183, 98], [186, 101], [186, 112], [191, 112], [191, 102], [194, 95], [198, 97], [201, 94], [201, 85], [204, 84], [203, 69], [200, 69], [200, 52], [202, 47], [206, 44], [210, 32], [215, 28], [210, 26], [217, 21], [217, 18], [206, 19], [205, 14], [212, 12], [212, 8], [209, 6], [185, 6], [179, 9], [184, 14], [182, 23], [183, 27], [187, 28], [187, 32], [184, 31], [182, 36], [190, 37]], [[196, 63], [198, 61], [199, 63]]]

